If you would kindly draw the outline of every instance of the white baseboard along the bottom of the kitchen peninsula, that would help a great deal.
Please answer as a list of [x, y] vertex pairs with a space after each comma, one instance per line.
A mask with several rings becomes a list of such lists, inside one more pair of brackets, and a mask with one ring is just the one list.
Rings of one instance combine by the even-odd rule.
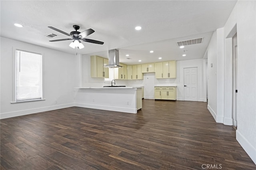
[[125, 113], [137, 113], [137, 109], [133, 108], [125, 108], [125, 107], [113, 107], [113, 106], [104, 106], [104, 105], [91, 105], [84, 103], [74, 103], [76, 107], [84, 107], [90, 109], [100, 109], [106, 111], [117, 111], [117, 112], [125, 112]]

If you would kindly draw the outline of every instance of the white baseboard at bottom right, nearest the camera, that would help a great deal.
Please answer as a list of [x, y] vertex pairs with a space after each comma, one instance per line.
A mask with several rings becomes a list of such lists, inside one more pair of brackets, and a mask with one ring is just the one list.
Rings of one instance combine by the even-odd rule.
[[236, 140], [250, 156], [254, 164], [256, 164], [256, 148], [254, 148], [238, 130], [236, 130]]

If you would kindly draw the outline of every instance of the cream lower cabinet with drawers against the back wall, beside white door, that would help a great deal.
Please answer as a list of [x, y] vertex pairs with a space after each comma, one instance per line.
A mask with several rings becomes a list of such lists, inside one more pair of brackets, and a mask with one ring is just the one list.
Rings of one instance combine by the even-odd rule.
[[176, 100], [176, 87], [155, 87], [155, 99]]

